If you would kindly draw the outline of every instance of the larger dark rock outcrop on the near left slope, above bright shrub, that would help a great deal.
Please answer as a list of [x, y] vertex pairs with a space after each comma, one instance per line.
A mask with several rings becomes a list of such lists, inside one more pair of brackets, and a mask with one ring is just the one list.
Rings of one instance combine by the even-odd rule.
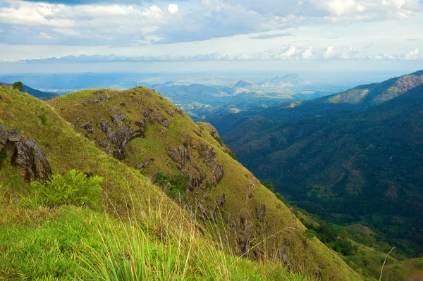
[[25, 171], [25, 180], [48, 180], [52, 175], [47, 156], [41, 146], [32, 139], [16, 142], [12, 155], [12, 165]]

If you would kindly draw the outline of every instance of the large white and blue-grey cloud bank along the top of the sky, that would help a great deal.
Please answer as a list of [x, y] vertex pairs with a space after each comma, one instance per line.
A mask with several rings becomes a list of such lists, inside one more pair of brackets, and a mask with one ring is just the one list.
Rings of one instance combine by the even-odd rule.
[[[131, 44], [146, 35], [171, 43], [309, 24], [404, 20], [421, 10], [419, 0], [191, 0], [183, 9], [180, 1], [8, 0], [0, 6], [0, 23], [44, 28], [37, 33], [56, 32], [61, 39], [97, 38], [98, 44]], [[255, 39], [283, 36], [288, 33]]]

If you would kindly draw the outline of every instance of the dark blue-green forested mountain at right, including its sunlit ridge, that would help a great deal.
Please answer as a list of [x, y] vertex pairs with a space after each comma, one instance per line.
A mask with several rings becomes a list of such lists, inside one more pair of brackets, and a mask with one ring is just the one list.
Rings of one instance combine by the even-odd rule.
[[416, 255], [423, 251], [422, 74], [251, 115], [226, 113], [212, 124], [243, 165], [296, 205], [335, 223], [366, 222]]

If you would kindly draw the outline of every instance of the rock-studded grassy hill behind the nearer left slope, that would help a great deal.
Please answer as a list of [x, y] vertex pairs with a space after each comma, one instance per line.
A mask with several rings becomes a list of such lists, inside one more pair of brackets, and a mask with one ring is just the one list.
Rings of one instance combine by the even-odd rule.
[[317, 239], [305, 239], [300, 221], [216, 135], [157, 92], [86, 90], [49, 104], [90, 143], [161, 185], [226, 251], [322, 280], [360, 280]]

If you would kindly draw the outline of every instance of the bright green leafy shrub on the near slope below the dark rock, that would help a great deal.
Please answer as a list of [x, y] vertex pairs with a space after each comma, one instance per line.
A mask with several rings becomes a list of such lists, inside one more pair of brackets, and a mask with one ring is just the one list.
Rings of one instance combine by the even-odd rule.
[[31, 197], [35, 206], [90, 206], [98, 208], [97, 201], [102, 192], [103, 177], [87, 177], [85, 173], [71, 170], [65, 176], [52, 175], [48, 182], [32, 182]]

